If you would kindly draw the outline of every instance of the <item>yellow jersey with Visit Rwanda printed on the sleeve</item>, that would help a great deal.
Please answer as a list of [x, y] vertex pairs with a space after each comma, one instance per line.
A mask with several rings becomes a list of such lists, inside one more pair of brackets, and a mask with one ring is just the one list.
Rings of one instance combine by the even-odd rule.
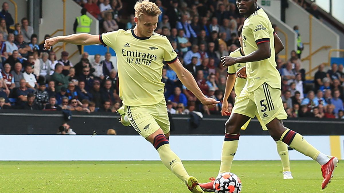
[[243, 31], [244, 54], [258, 49], [258, 44], [270, 42], [271, 56], [268, 59], [246, 63], [247, 84], [244, 89], [253, 92], [264, 82], [272, 88], [281, 88], [281, 76], [276, 69], [273, 28], [268, 15], [258, 8], [245, 19]]

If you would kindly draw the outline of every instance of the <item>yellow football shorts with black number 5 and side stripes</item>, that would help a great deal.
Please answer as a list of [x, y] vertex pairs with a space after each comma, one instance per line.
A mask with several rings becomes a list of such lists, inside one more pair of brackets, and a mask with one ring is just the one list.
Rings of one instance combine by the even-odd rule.
[[253, 92], [241, 91], [235, 105], [233, 113], [246, 115], [253, 118], [258, 115], [261, 124], [268, 124], [274, 118], [284, 120], [288, 117], [284, 111], [281, 90], [272, 88], [269, 84], [264, 83]]

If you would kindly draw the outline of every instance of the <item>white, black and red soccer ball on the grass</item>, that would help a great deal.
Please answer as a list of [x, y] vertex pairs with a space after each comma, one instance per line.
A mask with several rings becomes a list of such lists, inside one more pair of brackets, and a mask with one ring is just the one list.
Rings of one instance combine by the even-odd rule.
[[240, 193], [241, 181], [234, 173], [225, 172], [216, 177], [214, 190], [216, 193]]

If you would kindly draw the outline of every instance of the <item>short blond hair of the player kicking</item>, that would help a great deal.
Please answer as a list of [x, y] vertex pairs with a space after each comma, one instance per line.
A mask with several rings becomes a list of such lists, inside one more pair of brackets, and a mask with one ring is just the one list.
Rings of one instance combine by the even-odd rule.
[[135, 4], [135, 17], [139, 18], [142, 14], [156, 16], [161, 14], [161, 10], [157, 4], [149, 0], [139, 0]]

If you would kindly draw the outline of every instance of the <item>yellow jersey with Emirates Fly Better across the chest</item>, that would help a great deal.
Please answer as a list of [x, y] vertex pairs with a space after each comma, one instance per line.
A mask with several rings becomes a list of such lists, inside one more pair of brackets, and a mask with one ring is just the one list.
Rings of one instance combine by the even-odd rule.
[[116, 52], [119, 96], [123, 104], [142, 106], [161, 102], [162, 61], [173, 63], [177, 59], [169, 40], [155, 32], [150, 37], [138, 37], [132, 29], [101, 34], [99, 40]]

